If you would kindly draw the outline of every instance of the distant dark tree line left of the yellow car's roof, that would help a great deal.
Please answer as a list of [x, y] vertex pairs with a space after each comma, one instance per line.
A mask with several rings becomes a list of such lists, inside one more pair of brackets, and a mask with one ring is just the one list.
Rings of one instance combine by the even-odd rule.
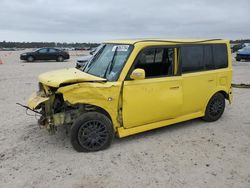
[[43, 48], [43, 47], [57, 47], [57, 48], [95, 48], [98, 43], [57, 43], [57, 42], [0, 42], [0, 48]]

